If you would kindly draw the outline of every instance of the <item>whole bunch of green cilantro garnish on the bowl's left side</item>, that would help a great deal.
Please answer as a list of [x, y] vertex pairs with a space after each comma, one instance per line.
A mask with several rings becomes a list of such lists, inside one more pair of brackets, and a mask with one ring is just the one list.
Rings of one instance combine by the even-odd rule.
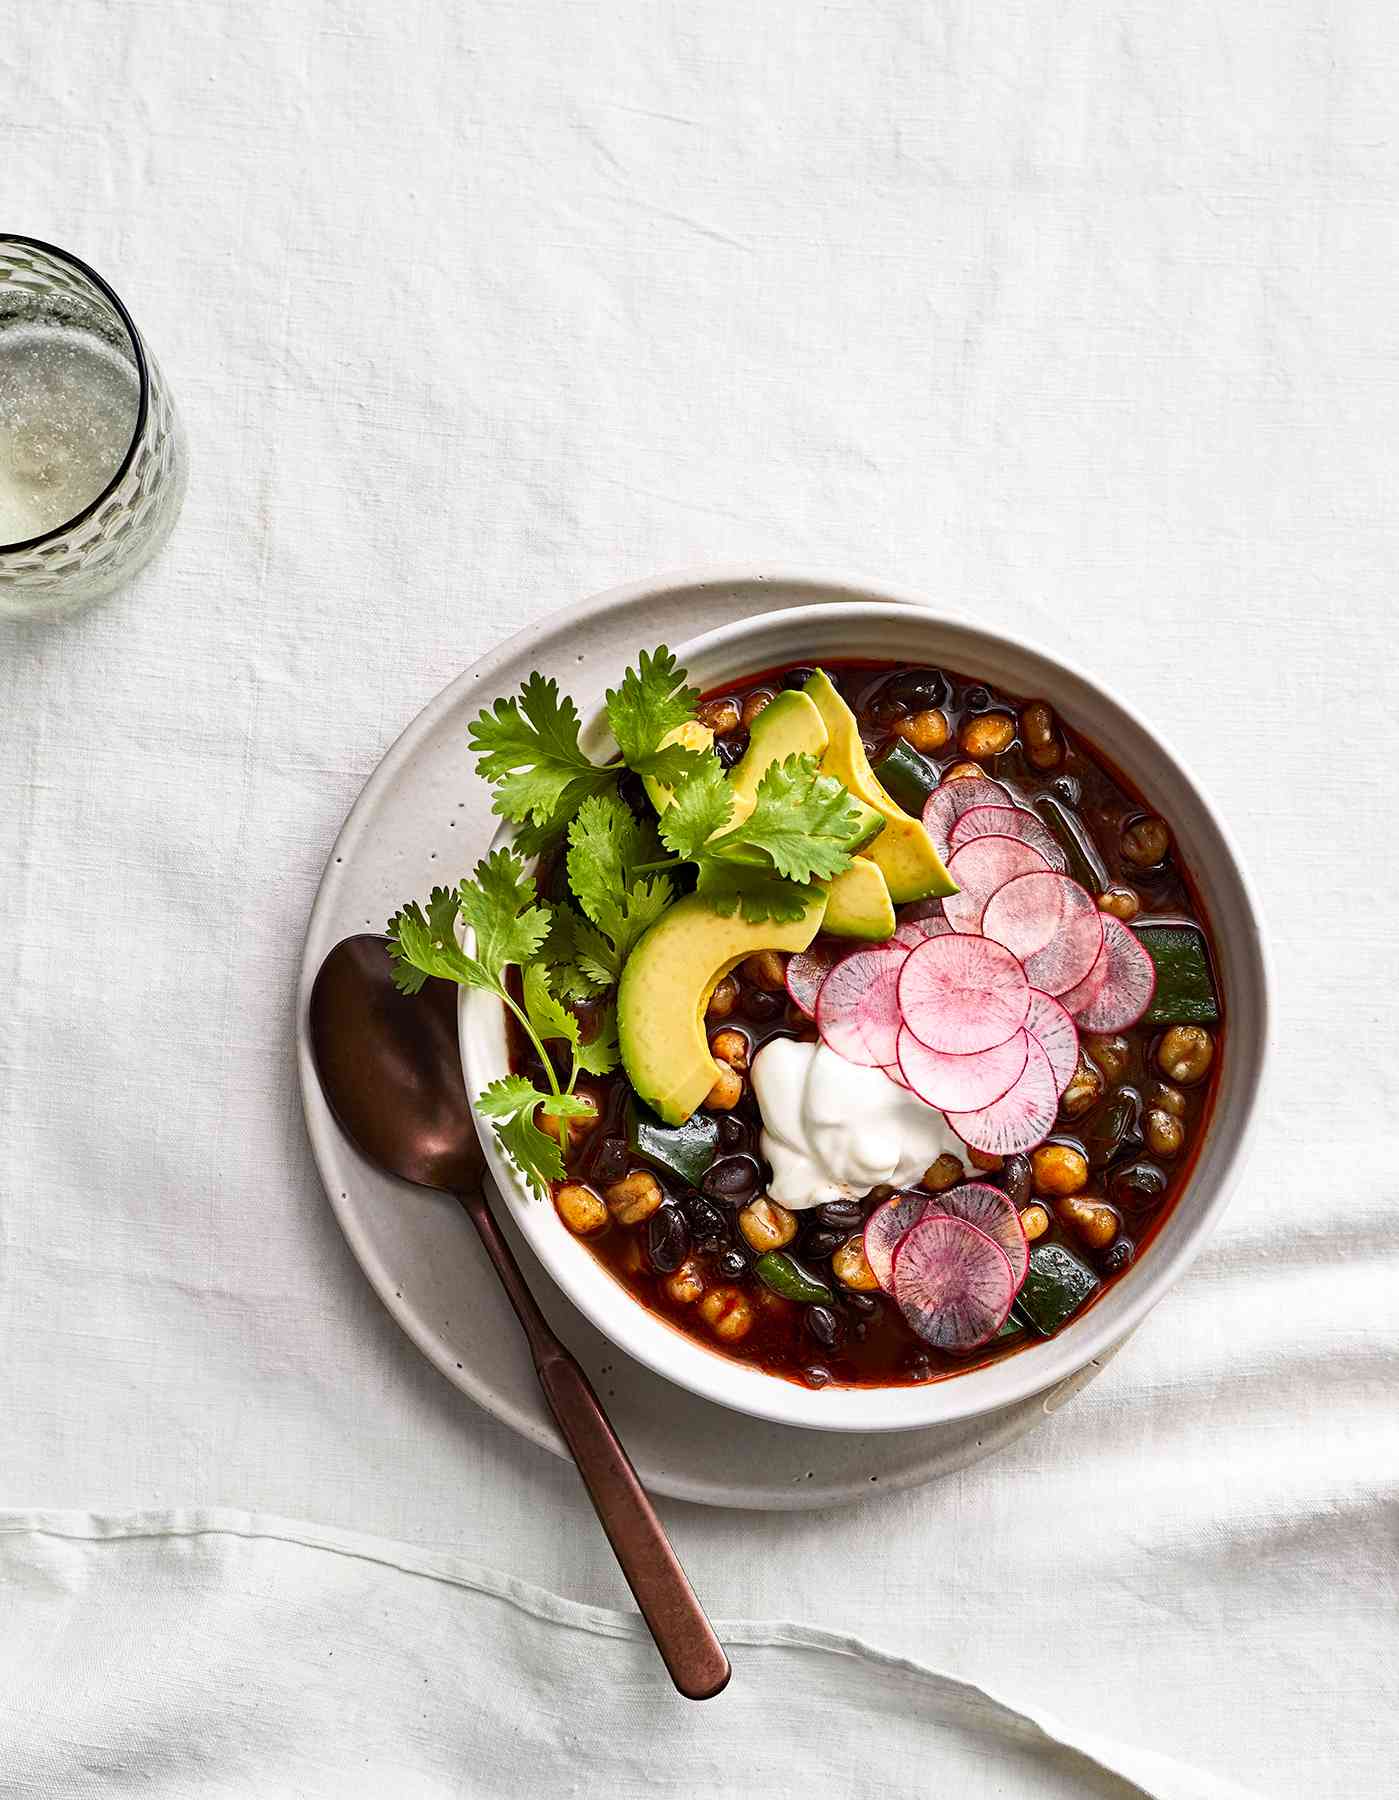
[[[594, 763], [578, 743], [580, 718], [558, 682], [535, 673], [519, 695], [486, 707], [470, 729], [481, 774], [495, 787], [493, 810], [515, 826], [513, 850], [497, 850], [456, 889], [434, 887], [389, 920], [394, 981], [416, 994], [429, 976], [495, 994], [533, 1044], [547, 1087], [510, 1075], [477, 1096], [477, 1109], [526, 1181], [547, 1192], [564, 1177], [564, 1121], [594, 1111], [576, 1093], [582, 1075], [601, 1076], [619, 1060], [616, 986], [641, 936], [677, 898], [679, 882], [724, 916], [753, 923], [803, 916], [812, 882], [850, 868], [866, 826], [862, 808], [814, 758], [771, 765], [747, 814], [735, 823], [735, 790], [711, 751], [663, 743], [695, 716], [699, 693], [670, 650], [643, 652], [607, 691], [618, 756]], [[639, 821], [618, 792], [623, 774], [661, 783], [670, 796], [655, 823]], [[747, 799], [745, 799], [747, 805]], [[538, 900], [528, 860], [564, 857], [569, 898]], [[472, 950], [457, 941], [457, 925]], [[520, 970], [520, 999], [506, 972]], [[583, 1037], [576, 1008], [591, 1006]], [[546, 1046], [567, 1048], [558, 1076]], [[555, 1123], [556, 1136], [542, 1129]]]

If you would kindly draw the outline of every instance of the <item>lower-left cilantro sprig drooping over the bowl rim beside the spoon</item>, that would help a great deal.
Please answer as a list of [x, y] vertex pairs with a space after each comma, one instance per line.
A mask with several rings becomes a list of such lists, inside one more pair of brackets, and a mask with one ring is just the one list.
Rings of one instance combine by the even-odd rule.
[[[618, 1066], [614, 1008], [601, 1012], [598, 1028], [585, 1039], [578, 1015], [540, 959], [555, 918], [551, 907], [538, 904], [535, 878], [524, 862], [510, 850], [497, 850], [457, 887], [434, 887], [425, 907], [411, 900], [389, 920], [394, 986], [418, 994], [429, 977], [438, 977], [463, 988], [484, 988], [510, 1008], [533, 1044], [547, 1089], [526, 1075], [506, 1075], [477, 1096], [477, 1107], [540, 1193], [547, 1193], [551, 1181], [564, 1179], [560, 1138], [567, 1120], [596, 1111], [592, 1100], [574, 1091], [578, 1076], [609, 1075]], [[474, 934], [470, 952], [457, 941], [459, 922]], [[524, 1004], [506, 985], [510, 968], [520, 970]], [[549, 1042], [567, 1046], [565, 1082], [549, 1057]], [[555, 1123], [553, 1136], [540, 1120]]]

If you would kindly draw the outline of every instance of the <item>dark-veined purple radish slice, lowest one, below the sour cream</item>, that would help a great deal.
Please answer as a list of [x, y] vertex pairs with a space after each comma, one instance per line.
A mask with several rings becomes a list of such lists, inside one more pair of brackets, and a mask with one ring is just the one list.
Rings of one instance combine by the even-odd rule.
[[893, 1298], [927, 1343], [974, 1350], [1005, 1325], [1015, 1276], [1006, 1253], [985, 1231], [934, 1213], [906, 1231], [895, 1251]]

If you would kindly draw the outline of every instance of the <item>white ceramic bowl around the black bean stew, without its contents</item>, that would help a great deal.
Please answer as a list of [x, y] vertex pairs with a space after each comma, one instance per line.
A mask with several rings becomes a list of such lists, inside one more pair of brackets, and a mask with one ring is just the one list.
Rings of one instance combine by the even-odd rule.
[[[648, 1312], [564, 1228], [553, 1206], [529, 1193], [499, 1152], [486, 1121], [481, 1121], [481, 1139], [495, 1183], [540, 1262], [618, 1348], [659, 1375], [758, 1418], [821, 1431], [907, 1431], [990, 1413], [1068, 1379], [1125, 1337], [1183, 1273], [1219, 1219], [1251, 1136], [1268, 1044], [1268, 968], [1257, 907], [1226, 832], [1179, 760], [1140, 718], [1044, 652], [943, 617], [916, 596], [871, 590], [864, 583], [832, 583], [832, 594], [843, 603], [771, 612], [724, 626], [679, 646], [679, 659], [702, 689], [783, 662], [855, 655], [945, 664], [1010, 693], [1042, 695], [1170, 823], [1214, 929], [1228, 1046], [1190, 1183], [1151, 1247], [1057, 1337], [988, 1368], [907, 1388], [810, 1390], [708, 1350], [699, 1337]], [[601, 756], [609, 742], [605, 722], [594, 713], [583, 743]], [[497, 844], [508, 841], [508, 830], [497, 833]], [[488, 994], [463, 994], [461, 1057], [470, 1094], [506, 1073], [504, 1015]]]

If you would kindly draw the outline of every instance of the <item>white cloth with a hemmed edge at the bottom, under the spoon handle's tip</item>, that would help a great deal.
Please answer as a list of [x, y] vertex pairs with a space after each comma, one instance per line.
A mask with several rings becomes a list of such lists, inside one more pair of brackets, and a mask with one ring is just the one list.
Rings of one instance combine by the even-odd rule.
[[461, 1557], [239, 1512], [0, 1514], [0, 1751], [83, 1795], [1248, 1800], [859, 1638], [717, 1622], [735, 1679], [657, 1690], [637, 1618]]

